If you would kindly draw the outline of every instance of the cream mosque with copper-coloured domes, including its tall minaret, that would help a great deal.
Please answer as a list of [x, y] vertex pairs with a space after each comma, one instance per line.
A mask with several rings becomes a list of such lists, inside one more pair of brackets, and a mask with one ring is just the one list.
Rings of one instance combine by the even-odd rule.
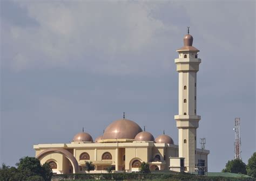
[[[95, 170], [90, 173], [104, 173], [109, 166], [114, 172], [139, 171], [142, 162], [150, 170], [172, 170], [196, 172], [202, 166], [207, 169], [209, 150], [197, 148], [197, 72], [201, 59], [199, 50], [192, 46], [193, 37], [184, 37], [184, 46], [175, 59], [179, 73], [179, 113], [176, 120], [179, 142], [174, 144], [169, 135], [156, 138], [134, 121], [123, 119], [112, 122], [104, 134], [94, 141], [90, 134], [76, 134], [71, 143], [37, 144], [36, 158], [41, 164], [49, 163], [53, 173], [85, 173], [85, 163], [92, 162]], [[206, 169], [205, 169], [206, 168]]]

